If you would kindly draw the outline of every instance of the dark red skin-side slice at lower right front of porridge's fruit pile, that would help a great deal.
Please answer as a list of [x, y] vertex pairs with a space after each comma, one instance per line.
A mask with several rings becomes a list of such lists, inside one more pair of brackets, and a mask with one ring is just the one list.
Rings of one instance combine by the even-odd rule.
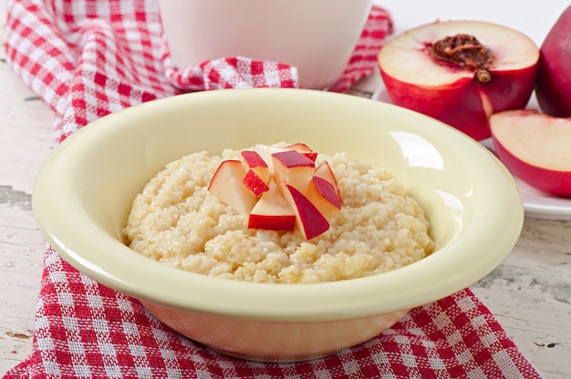
[[317, 237], [329, 229], [329, 222], [325, 216], [317, 210], [317, 207], [306, 196], [290, 184], [285, 184], [287, 194], [285, 200], [296, 213], [296, 225], [304, 234], [306, 240]]

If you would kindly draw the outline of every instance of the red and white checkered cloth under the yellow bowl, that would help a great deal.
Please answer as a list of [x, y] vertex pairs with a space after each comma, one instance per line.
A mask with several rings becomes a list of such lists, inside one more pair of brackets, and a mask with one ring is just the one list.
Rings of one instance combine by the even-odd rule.
[[[153, 0], [10, 0], [6, 55], [56, 113], [56, 141], [121, 108], [184, 91], [297, 87], [295, 67], [221, 57], [171, 63]], [[373, 71], [389, 15], [375, 6], [335, 91]], [[12, 378], [539, 378], [468, 289], [413, 309], [387, 332], [297, 364], [205, 349], [140, 302], [94, 282], [46, 246], [33, 352]]]

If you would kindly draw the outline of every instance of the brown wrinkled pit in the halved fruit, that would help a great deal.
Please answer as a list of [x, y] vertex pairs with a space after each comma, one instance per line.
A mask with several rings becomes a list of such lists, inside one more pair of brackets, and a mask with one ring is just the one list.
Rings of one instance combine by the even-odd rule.
[[493, 54], [475, 36], [458, 34], [446, 36], [427, 44], [429, 56], [439, 64], [462, 67], [474, 71], [474, 79], [488, 83], [492, 75], [488, 69], [493, 64]]

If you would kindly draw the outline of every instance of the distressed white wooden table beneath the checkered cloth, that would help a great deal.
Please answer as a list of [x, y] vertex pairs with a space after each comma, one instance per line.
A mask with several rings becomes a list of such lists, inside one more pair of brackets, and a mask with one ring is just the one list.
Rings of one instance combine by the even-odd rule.
[[[379, 3], [398, 8], [397, 20], [408, 6]], [[562, 9], [565, 2], [559, 3]], [[4, 26], [5, 0], [0, 19]], [[53, 115], [5, 64], [4, 49], [0, 58], [0, 374], [5, 374], [31, 352], [44, 241], [30, 194], [53, 147]], [[372, 77], [358, 88], [370, 95], [378, 85]], [[571, 221], [526, 218], [514, 251], [472, 291], [545, 378], [571, 377]]]

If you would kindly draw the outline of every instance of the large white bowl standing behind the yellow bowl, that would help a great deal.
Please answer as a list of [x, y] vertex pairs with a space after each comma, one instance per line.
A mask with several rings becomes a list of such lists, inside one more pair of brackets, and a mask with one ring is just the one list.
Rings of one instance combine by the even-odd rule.
[[245, 56], [297, 67], [301, 87], [333, 86], [358, 42], [372, 0], [159, 0], [180, 67]]

